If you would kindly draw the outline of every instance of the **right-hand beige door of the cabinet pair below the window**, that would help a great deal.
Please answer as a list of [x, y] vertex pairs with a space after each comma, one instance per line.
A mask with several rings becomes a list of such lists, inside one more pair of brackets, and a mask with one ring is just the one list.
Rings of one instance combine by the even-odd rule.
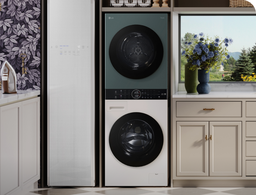
[[210, 122], [210, 176], [242, 176], [241, 125], [242, 122], [235, 121]]

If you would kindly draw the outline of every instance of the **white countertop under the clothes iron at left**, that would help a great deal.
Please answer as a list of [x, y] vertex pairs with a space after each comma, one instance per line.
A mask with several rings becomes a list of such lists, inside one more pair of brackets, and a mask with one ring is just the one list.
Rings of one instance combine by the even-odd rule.
[[13, 94], [7, 94], [7, 93], [2, 94], [2, 92], [0, 91], [0, 106], [1, 104], [11, 103], [11, 102], [22, 100], [25, 98], [31, 98], [37, 95], [40, 95], [40, 90], [31, 90], [31, 91], [17, 90], [17, 93], [13, 93]]

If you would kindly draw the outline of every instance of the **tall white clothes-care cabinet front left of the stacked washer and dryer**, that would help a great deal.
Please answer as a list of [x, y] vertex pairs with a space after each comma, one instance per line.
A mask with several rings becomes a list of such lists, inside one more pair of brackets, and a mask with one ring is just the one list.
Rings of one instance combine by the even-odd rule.
[[92, 186], [93, 1], [48, 1], [50, 186]]

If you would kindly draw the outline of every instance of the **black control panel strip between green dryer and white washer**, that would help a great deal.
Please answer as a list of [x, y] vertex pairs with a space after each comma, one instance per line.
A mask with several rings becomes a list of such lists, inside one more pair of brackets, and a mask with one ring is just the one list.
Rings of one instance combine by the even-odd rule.
[[105, 89], [106, 100], [167, 100], [167, 89]]

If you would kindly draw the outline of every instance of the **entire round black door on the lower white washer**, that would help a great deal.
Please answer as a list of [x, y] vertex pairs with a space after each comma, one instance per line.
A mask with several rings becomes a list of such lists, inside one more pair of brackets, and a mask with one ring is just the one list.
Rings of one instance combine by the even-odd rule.
[[163, 148], [163, 132], [151, 116], [132, 112], [119, 118], [111, 128], [109, 146], [113, 155], [128, 166], [153, 162]]

